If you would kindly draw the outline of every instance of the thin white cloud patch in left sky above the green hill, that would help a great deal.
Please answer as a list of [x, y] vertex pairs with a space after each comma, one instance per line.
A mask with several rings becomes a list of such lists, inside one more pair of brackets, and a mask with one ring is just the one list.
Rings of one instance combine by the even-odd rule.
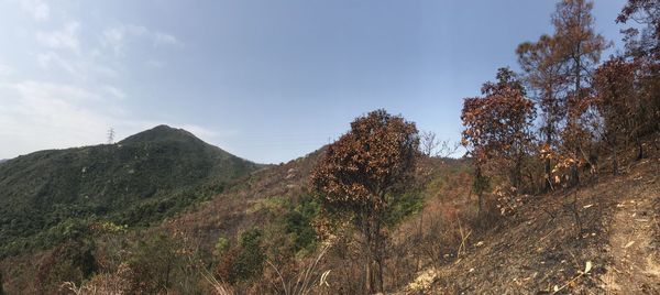
[[[16, 11], [30, 15], [30, 22], [47, 22], [21, 29], [22, 36], [34, 37], [37, 45], [26, 50], [24, 57], [32, 58], [44, 74], [55, 75], [31, 75], [34, 73], [19, 70], [23, 69], [20, 59], [0, 59], [0, 142], [11, 143], [0, 144], [0, 159], [103, 143], [109, 128], [117, 130], [118, 139], [161, 123], [184, 128], [205, 140], [224, 136], [196, 124], [138, 117], [124, 108], [131, 95], [122, 85], [122, 74], [131, 65], [114, 57], [131, 53], [133, 46], [183, 46], [175, 35], [139, 24], [91, 31], [94, 26], [85, 25], [85, 18], [74, 19], [66, 6], [52, 10], [54, 2], [10, 1]], [[165, 65], [152, 56], [144, 61], [145, 66]]]

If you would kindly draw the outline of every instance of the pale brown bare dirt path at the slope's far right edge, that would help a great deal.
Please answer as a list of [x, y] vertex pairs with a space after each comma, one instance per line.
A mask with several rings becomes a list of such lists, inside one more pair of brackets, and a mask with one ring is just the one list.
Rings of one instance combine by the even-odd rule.
[[630, 192], [616, 205], [608, 249], [614, 261], [602, 277], [607, 294], [660, 294], [659, 198], [652, 189]]

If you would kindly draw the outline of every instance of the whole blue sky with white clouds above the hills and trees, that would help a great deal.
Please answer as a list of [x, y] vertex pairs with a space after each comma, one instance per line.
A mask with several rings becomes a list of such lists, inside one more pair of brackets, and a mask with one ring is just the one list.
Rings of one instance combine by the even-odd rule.
[[[620, 47], [624, 0], [596, 1]], [[0, 0], [0, 159], [166, 123], [278, 163], [360, 114], [458, 141], [462, 98], [551, 33], [550, 0]]]

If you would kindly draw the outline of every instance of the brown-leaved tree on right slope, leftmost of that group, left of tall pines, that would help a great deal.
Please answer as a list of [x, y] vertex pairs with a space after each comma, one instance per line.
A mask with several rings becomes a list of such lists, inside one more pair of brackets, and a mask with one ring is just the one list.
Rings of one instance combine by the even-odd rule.
[[462, 143], [474, 159], [480, 211], [486, 163], [507, 167], [510, 184], [519, 188], [522, 160], [534, 139], [534, 102], [525, 97], [525, 88], [510, 69], [498, 69], [497, 78], [498, 83], [483, 85], [483, 97], [465, 98], [461, 113], [465, 128]]

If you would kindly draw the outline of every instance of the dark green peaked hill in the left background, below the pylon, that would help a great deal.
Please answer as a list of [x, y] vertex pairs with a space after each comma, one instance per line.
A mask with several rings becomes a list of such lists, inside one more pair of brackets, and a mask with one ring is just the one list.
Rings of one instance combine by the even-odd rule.
[[0, 255], [54, 244], [91, 219], [160, 220], [258, 167], [166, 125], [9, 160], [0, 165]]

